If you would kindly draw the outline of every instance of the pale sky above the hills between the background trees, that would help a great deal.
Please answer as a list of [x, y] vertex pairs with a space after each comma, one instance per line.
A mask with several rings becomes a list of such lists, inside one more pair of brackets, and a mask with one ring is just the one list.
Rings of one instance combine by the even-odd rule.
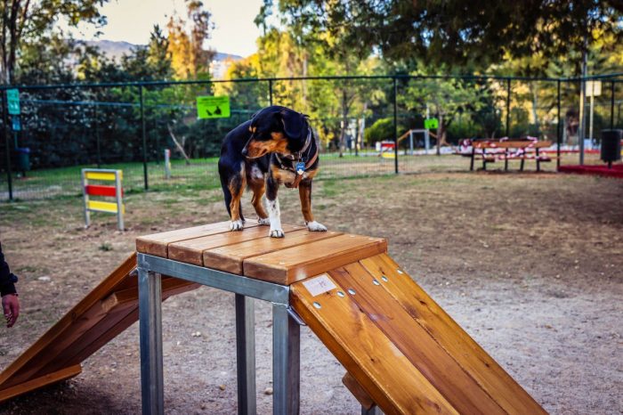
[[[217, 52], [245, 57], [255, 53], [255, 39], [261, 35], [261, 30], [253, 20], [262, 4], [263, 0], [204, 0], [215, 25], [207, 45]], [[101, 8], [108, 24], [99, 28], [103, 32], [100, 37], [94, 37], [96, 29], [91, 26], [82, 25], [71, 32], [82, 40], [105, 39], [145, 45], [153, 25], [166, 28], [166, 22], [175, 12], [186, 17], [183, 0], [110, 0]]]

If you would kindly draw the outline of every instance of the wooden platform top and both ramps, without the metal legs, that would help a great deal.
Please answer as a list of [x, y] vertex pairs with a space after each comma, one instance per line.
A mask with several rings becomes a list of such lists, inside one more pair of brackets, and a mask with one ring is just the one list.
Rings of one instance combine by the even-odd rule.
[[[347, 371], [344, 385], [386, 414], [546, 413], [398, 264], [380, 238], [286, 237], [229, 222], [148, 235], [137, 251], [290, 287], [290, 304]], [[79, 373], [138, 318], [135, 256], [0, 374], [0, 401]], [[231, 278], [236, 278], [234, 275]], [[163, 278], [163, 298], [195, 284]], [[33, 383], [34, 382], [34, 383]]]

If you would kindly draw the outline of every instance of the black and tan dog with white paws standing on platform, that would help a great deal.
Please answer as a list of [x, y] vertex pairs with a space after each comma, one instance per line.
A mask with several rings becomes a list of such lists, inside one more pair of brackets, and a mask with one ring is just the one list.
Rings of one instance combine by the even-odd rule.
[[[260, 224], [270, 224], [269, 235], [284, 236], [279, 218], [279, 184], [298, 187], [301, 210], [310, 231], [327, 228], [312, 216], [312, 179], [318, 172], [318, 144], [307, 116], [273, 105], [257, 112], [225, 136], [218, 162], [231, 231], [241, 231], [240, 198], [245, 188], [253, 191], [251, 203]], [[268, 214], [262, 205], [266, 193]]]

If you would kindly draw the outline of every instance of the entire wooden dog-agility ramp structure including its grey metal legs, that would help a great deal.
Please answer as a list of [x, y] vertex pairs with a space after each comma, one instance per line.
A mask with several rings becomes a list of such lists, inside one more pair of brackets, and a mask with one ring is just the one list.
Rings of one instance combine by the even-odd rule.
[[239, 413], [255, 413], [253, 298], [272, 303], [275, 414], [299, 411], [300, 324], [342, 363], [362, 413], [545, 413], [387, 255], [386, 240], [284, 229], [275, 239], [223, 222], [138, 238], [137, 256], [0, 374], [0, 402], [74, 376], [140, 318], [142, 410], [164, 413], [160, 303], [201, 284], [236, 294]]

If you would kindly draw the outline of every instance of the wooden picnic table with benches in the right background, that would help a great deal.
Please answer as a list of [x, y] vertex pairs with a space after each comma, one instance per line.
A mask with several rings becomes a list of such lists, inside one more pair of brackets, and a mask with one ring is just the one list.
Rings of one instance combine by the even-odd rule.
[[496, 160], [504, 160], [504, 170], [508, 171], [508, 160], [521, 160], [520, 171], [526, 159], [534, 159], [537, 162], [537, 171], [541, 171], [541, 163], [552, 161], [548, 154], [541, 153], [541, 149], [552, 146], [549, 140], [538, 141], [535, 139], [485, 139], [473, 140], [472, 151], [463, 155], [470, 157], [470, 170], [473, 170], [475, 159], [482, 160], [482, 170], [487, 169], [487, 163], [494, 163]]

